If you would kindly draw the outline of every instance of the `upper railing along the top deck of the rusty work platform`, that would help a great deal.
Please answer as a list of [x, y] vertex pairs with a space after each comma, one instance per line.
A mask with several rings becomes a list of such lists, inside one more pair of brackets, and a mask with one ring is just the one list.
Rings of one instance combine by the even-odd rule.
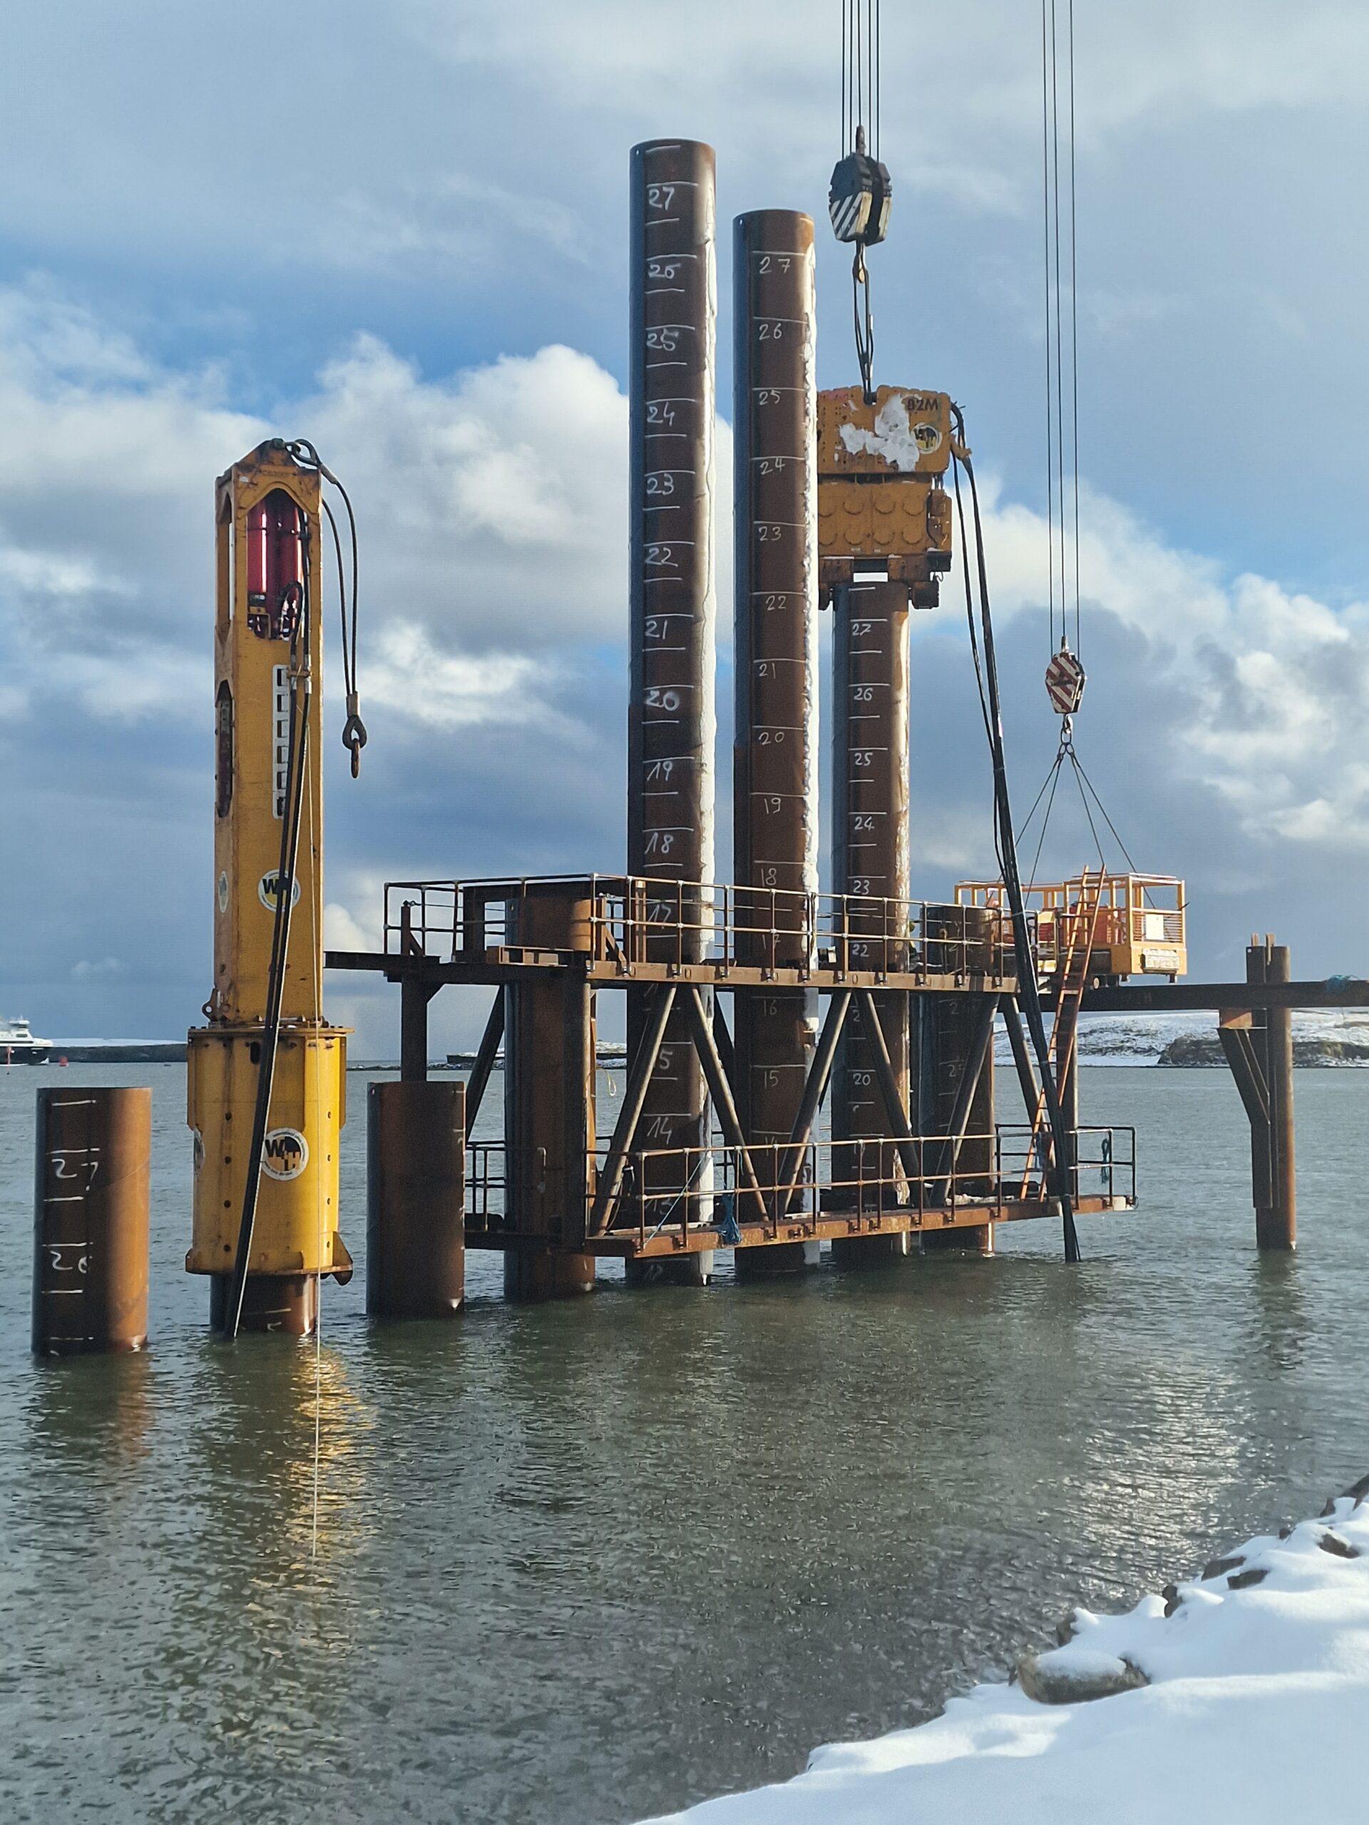
[[[548, 936], [549, 934], [549, 936]], [[1015, 978], [1006, 916], [862, 894], [792, 892], [653, 876], [391, 881], [387, 954]]]

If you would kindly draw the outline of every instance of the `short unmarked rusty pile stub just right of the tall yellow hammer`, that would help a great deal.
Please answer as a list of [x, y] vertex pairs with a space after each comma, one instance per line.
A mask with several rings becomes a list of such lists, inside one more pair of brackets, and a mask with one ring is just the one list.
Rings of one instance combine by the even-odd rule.
[[465, 1086], [367, 1093], [367, 1312], [453, 1318], [465, 1301]]

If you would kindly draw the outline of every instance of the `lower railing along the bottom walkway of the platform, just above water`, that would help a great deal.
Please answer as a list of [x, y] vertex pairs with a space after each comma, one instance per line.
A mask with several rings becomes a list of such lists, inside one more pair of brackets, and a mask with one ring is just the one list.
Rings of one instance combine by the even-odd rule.
[[[1079, 1128], [1073, 1135], [1073, 1195], [1135, 1201], [1135, 1130]], [[595, 1239], [633, 1239], [639, 1246], [663, 1234], [716, 1230], [719, 1245], [761, 1226], [770, 1239], [818, 1234], [820, 1219], [834, 1215], [911, 1215], [951, 1221], [973, 1210], [984, 1223], [1002, 1221], [1009, 1206], [1046, 1203], [1050, 1184], [1046, 1146], [1028, 1126], [1000, 1124], [991, 1133], [969, 1133], [958, 1148], [946, 1135], [896, 1141], [812, 1141], [796, 1157], [790, 1146], [641, 1148], [628, 1159], [622, 1190], [608, 1226]], [[599, 1148], [590, 1173], [590, 1199], [606, 1150]], [[500, 1232], [506, 1215], [506, 1150], [500, 1142], [467, 1148], [465, 1221]], [[664, 1170], [668, 1168], [668, 1170]], [[754, 1175], [754, 1177], [752, 1177]], [[528, 1175], [533, 1183], [537, 1173]], [[681, 1190], [686, 1186], [688, 1190]], [[551, 1188], [549, 1188], [551, 1190]], [[553, 1194], [555, 1203], [555, 1194]], [[586, 1208], [586, 1226], [590, 1208]], [[579, 1226], [577, 1226], [579, 1228]]]

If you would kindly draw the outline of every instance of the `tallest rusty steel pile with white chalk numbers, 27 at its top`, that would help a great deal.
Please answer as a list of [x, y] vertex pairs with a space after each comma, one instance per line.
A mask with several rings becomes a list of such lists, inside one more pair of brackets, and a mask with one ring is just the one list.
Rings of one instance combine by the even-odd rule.
[[[714, 150], [632, 150], [628, 871], [714, 872]], [[648, 995], [628, 1006], [628, 1053]], [[666, 1142], [706, 1139], [703, 1071], [683, 1013], [661, 1051], [646, 1122]]]

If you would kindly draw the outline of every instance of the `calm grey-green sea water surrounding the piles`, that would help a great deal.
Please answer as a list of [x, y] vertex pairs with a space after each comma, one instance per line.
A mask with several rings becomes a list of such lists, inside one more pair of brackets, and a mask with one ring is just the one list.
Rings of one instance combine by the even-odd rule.
[[[27, 1354], [33, 1093], [0, 1071], [0, 1818], [626, 1821], [935, 1714], [1369, 1469], [1369, 1077], [1298, 1075], [1301, 1243], [1252, 1245], [1221, 1071], [1093, 1069], [1143, 1212], [993, 1261], [608, 1287], [453, 1325], [325, 1292], [204, 1329], [181, 1068], [153, 1349]], [[350, 1079], [345, 1234], [365, 1241]], [[726, 1259], [726, 1257], [723, 1257]], [[319, 1387], [318, 1557], [314, 1416]]]

